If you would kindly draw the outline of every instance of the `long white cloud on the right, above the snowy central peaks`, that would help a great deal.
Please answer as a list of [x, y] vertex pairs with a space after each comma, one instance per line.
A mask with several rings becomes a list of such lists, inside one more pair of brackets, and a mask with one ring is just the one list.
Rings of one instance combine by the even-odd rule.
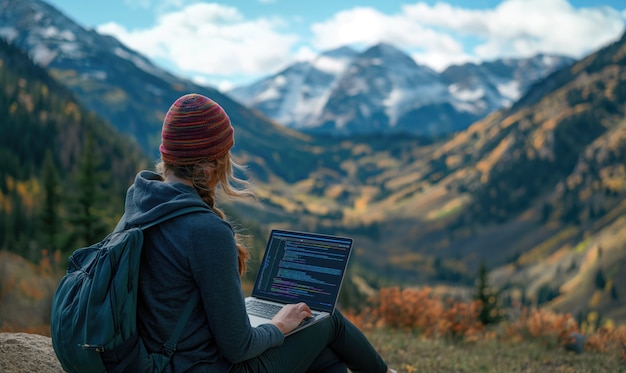
[[398, 14], [357, 7], [311, 28], [312, 44], [322, 50], [386, 41], [418, 63], [441, 70], [450, 64], [537, 53], [579, 58], [615, 40], [625, 19], [624, 12], [609, 7], [576, 9], [565, 0], [505, 0], [492, 9], [417, 2], [404, 5]]

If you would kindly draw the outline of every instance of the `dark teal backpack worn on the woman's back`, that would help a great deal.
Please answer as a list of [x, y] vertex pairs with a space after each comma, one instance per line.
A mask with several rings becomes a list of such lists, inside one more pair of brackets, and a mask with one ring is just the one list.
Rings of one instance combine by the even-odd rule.
[[181, 209], [141, 227], [116, 230], [76, 250], [52, 299], [52, 346], [70, 373], [161, 372], [198, 302], [187, 302], [160, 353], [148, 353], [137, 332], [143, 230], [206, 207]]

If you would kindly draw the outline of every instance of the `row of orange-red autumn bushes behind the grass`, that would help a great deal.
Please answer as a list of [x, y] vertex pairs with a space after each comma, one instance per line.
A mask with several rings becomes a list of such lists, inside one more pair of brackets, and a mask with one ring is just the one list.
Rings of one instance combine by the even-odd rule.
[[584, 336], [586, 351], [619, 352], [626, 362], [626, 325], [607, 323], [597, 330], [581, 328], [570, 314], [546, 308], [518, 307], [507, 310], [497, 325], [483, 325], [482, 302], [443, 299], [429, 287], [380, 289], [360, 312], [345, 311], [359, 328], [391, 328], [416, 331], [422, 338], [449, 338], [474, 342], [497, 338], [503, 341], [539, 341], [547, 348], [571, 343], [572, 335]]

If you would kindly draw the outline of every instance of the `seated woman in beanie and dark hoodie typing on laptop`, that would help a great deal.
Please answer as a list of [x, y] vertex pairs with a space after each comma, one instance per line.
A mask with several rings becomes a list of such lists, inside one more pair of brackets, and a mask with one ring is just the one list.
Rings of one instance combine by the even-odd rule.
[[123, 224], [154, 221], [190, 206], [210, 208], [145, 232], [138, 327], [147, 349], [158, 352], [187, 300], [200, 299], [166, 371], [391, 371], [339, 311], [289, 337], [284, 334], [311, 316], [304, 303], [285, 306], [271, 323], [250, 326], [240, 278], [249, 253], [215, 206], [218, 190], [230, 197], [253, 196], [233, 174], [238, 166], [230, 158], [230, 119], [211, 99], [189, 94], [172, 104], [161, 135], [157, 172], [137, 175]]

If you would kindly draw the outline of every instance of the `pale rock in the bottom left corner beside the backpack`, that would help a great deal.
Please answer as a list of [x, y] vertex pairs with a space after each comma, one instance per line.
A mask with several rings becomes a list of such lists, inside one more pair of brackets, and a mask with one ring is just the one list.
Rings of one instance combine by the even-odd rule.
[[0, 333], [0, 372], [63, 373], [52, 339], [39, 334]]

